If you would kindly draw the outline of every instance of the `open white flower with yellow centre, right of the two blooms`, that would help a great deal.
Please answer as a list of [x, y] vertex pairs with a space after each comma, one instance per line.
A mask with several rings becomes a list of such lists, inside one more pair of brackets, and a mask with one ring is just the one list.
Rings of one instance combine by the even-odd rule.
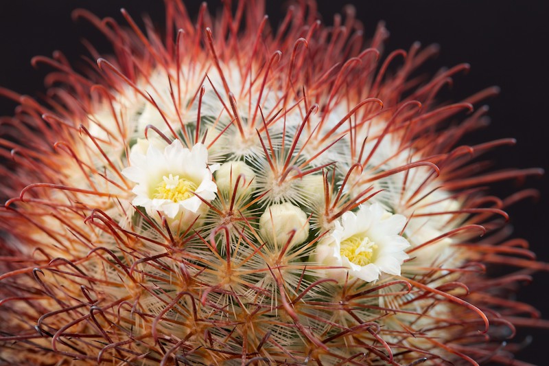
[[[400, 267], [408, 255], [408, 240], [399, 235], [406, 218], [385, 211], [379, 204], [362, 206], [356, 214], [342, 215], [341, 223], [321, 239], [313, 256], [314, 261], [327, 268], [328, 277], [343, 281], [360, 278], [372, 282], [381, 273], [400, 275]], [[342, 268], [337, 268], [342, 267]]]

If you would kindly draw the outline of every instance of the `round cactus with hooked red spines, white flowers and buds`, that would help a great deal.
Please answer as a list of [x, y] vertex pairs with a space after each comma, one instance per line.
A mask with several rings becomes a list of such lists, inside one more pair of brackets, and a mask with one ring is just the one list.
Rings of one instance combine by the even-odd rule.
[[263, 1], [165, 5], [165, 32], [75, 11], [114, 56], [36, 58], [41, 103], [3, 91], [0, 360], [513, 363], [535, 312], [500, 297], [525, 276], [485, 264], [546, 265], [502, 230], [531, 192], [480, 186], [541, 171], [471, 163], [511, 139], [459, 145], [495, 89], [441, 104], [467, 66], [418, 80], [436, 48], [383, 57], [351, 8], [325, 27], [297, 2], [272, 28]]

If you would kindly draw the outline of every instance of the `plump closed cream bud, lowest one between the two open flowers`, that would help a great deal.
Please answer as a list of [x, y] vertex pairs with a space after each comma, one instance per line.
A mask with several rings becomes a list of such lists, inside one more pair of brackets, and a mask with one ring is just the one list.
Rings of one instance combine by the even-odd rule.
[[285, 202], [271, 205], [259, 218], [259, 233], [269, 244], [285, 245], [292, 231], [292, 245], [301, 244], [309, 236], [309, 220], [299, 207]]

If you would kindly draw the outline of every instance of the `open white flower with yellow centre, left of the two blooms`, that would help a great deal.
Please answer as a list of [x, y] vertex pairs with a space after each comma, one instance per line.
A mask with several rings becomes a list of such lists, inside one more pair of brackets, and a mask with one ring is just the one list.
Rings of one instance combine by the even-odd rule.
[[189, 150], [179, 140], [164, 150], [150, 144], [146, 154], [133, 149], [131, 166], [122, 170], [126, 178], [137, 183], [132, 204], [143, 207], [153, 218], [166, 216], [173, 228], [186, 229], [208, 209], [200, 198], [209, 202], [218, 190], [212, 180], [217, 166], [208, 167], [207, 161], [204, 145], [196, 144]]

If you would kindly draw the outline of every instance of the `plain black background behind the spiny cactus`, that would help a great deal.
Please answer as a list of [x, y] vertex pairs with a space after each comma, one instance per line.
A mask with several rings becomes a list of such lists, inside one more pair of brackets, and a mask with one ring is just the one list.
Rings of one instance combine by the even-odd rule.
[[[196, 14], [198, 1], [185, 1], [190, 14]], [[210, 9], [219, 1], [209, 1]], [[490, 155], [496, 167], [549, 170], [549, 2], [548, 1], [327, 1], [319, 10], [326, 23], [345, 3], [354, 3], [357, 16], [365, 25], [366, 36], [373, 34], [379, 20], [390, 31], [387, 50], [408, 49], [412, 42], [439, 43], [441, 54], [428, 65], [439, 67], [469, 62], [471, 71], [455, 78], [454, 87], [443, 95], [459, 100], [476, 91], [498, 85], [500, 96], [489, 102], [492, 124], [468, 137], [468, 144], [516, 137], [515, 147], [500, 148]], [[162, 1], [137, 0], [17, 0], [0, 2], [0, 85], [19, 93], [36, 95], [43, 91], [47, 69], [33, 69], [35, 55], [51, 56], [60, 49], [69, 60], [78, 61], [85, 53], [80, 38], [85, 37], [102, 52], [109, 52], [104, 38], [84, 22], [73, 23], [71, 10], [86, 8], [99, 16], [113, 16], [124, 23], [119, 8], [126, 8], [135, 19], [143, 12], [161, 24]], [[281, 1], [268, 1], [273, 25], [283, 16]], [[11, 115], [15, 104], [0, 100], [0, 115]], [[549, 179], [527, 179], [526, 187], [542, 192], [537, 203], [520, 203], [509, 209], [515, 236], [530, 241], [539, 260], [549, 262]], [[495, 194], [506, 196], [517, 189], [513, 183], [496, 185]], [[519, 299], [535, 305], [549, 318], [549, 274], [539, 273], [535, 282], [524, 287]], [[519, 359], [547, 365], [549, 330], [522, 330], [517, 339], [528, 335], [533, 344]]]

